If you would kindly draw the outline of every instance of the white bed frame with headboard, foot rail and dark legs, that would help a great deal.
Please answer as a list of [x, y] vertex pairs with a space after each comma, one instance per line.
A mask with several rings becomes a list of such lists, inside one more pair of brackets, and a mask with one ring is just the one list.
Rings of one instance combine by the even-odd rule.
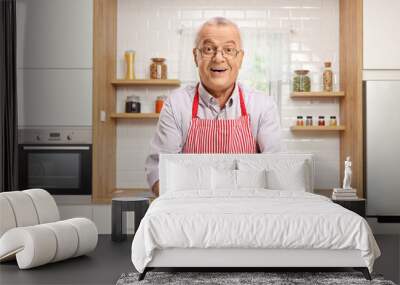
[[[309, 188], [306, 191], [313, 192], [314, 161], [312, 154], [160, 154], [160, 181], [168, 178], [168, 161], [190, 161], [191, 163], [208, 163], [219, 160], [243, 159], [292, 159], [306, 161], [309, 166], [308, 179]], [[165, 193], [160, 182], [160, 193]], [[331, 249], [249, 249], [249, 248], [218, 248], [218, 249], [195, 249], [195, 248], [170, 248], [156, 250], [151, 262], [139, 280], [143, 280], [146, 273], [160, 268], [230, 268], [234, 271], [265, 271], [271, 268], [343, 268], [350, 267], [361, 271], [364, 277], [371, 280], [369, 270], [361, 257], [359, 250], [331, 250]]]

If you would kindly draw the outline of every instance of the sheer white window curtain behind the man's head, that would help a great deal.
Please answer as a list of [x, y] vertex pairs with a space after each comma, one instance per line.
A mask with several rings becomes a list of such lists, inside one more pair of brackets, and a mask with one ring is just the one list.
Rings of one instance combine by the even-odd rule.
[[[179, 78], [184, 83], [199, 80], [192, 50], [197, 30], [182, 28], [180, 33]], [[238, 80], [273, 96], [281, 110], [281, 83], [289, 64], [289, 31], [241, 28], [244, 59]]]

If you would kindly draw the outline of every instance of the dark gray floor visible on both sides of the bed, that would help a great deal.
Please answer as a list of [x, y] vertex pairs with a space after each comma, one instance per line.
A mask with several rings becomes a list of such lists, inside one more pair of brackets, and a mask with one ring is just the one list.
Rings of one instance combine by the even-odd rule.
[[[400, 237], [377, 235], [382, 256], [375, 263], [375, 273], [399, 282]], [[16, 262], [0, 264], [0, 284], [115, 284], [124, 272], [135, 271], [131, 262], [132, 236], [121, 243], [110, 235], [100, 235], [95, 251], [87, 256], [19, 270]]]

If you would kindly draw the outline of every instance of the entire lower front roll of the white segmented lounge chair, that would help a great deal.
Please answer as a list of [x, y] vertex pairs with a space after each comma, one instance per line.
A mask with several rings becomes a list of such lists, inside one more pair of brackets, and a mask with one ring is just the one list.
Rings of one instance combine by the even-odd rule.
[[96, 248], [97, 235], [86, 218], [13, 228], [0, 238], [0, 261], [16, 257], [19, 268], [28, 269], [77, 257]]

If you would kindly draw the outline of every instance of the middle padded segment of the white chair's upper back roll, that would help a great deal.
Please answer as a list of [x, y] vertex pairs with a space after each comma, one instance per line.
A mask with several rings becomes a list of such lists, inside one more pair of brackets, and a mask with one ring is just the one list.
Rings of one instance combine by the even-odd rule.
[[39, 223], [35, 205], [30, 196], [22, 191], [3, 192], [13, 209], [17, 227], [33, 226]]

